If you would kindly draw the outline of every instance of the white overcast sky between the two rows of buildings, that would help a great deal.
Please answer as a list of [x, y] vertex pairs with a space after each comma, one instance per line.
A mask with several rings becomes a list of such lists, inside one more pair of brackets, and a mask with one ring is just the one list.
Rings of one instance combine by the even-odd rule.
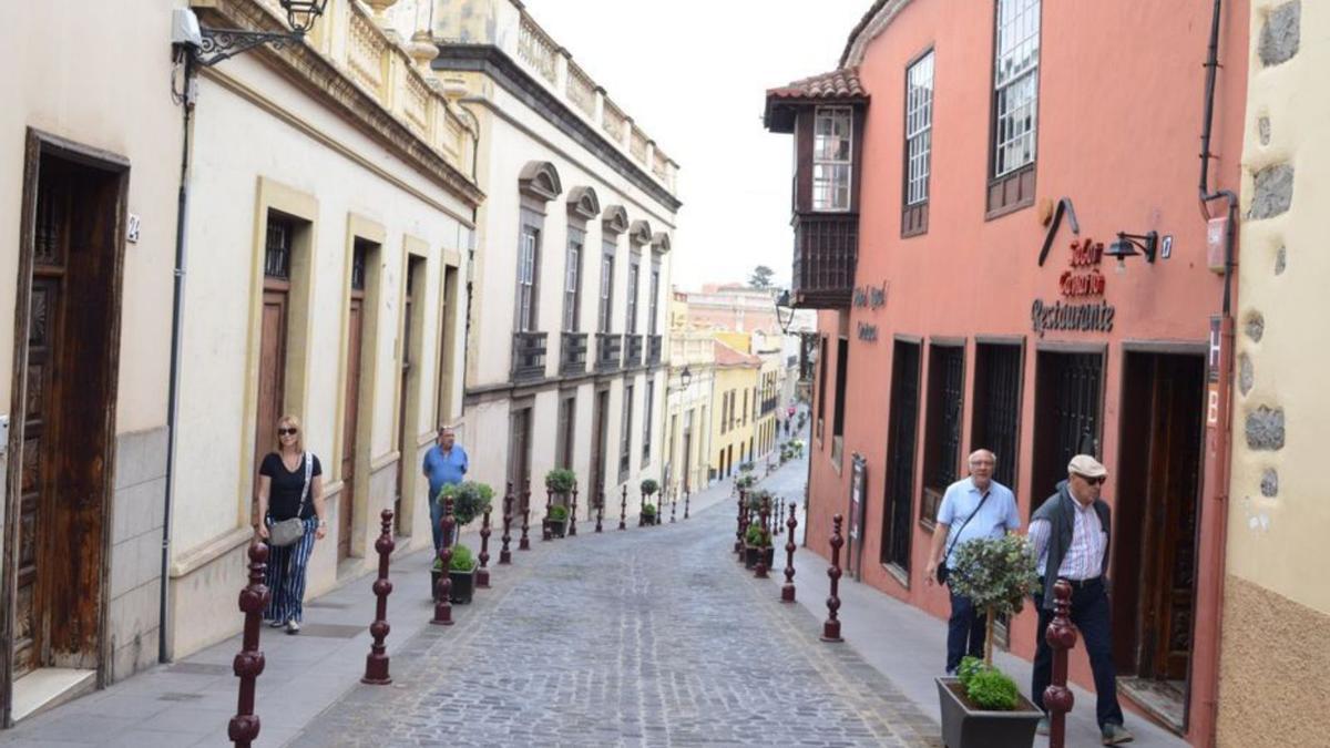
[[678, 165], [681, 289], [790, 280], [791, 136], [762, 128], [767, 88], [835, 68], [871, 0], [524, 0]]

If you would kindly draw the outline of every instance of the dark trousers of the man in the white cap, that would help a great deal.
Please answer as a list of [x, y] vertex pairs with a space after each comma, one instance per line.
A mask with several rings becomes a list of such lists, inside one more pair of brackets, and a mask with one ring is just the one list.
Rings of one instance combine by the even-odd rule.
[[[1043, 580], [1040, 580], [1043, 590]], [[1035, 650], [1035, 672], [1029, 691], [1035, 705], [1044, 708], [1044, 688], [1053, 677], [1053, 650], [1044, 632], [1053, 620], [1053, 611], [1039, 604], [1039, 631]], [[1117, 669], [1113, 667], [1113, 623], [1108, 606], [1108, 592], [1103, 582], [1092, 582], [1072, 590], [1072, 623], [1080, 632], [1079, 647], [1089, 655], [1089, 669], [1095, 673], [1095, 717], [1099, 727], [1108, 723], [1123, 724], [1123, 708], [1117, 705]]]

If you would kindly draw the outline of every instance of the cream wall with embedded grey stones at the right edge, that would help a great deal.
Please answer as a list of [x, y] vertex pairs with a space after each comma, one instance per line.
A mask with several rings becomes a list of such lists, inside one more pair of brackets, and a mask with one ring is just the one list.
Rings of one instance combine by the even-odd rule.
[[1323, 310], [1330, 7], [1252, 3], [1217, 745], [1319, 745], [1330, 687]]

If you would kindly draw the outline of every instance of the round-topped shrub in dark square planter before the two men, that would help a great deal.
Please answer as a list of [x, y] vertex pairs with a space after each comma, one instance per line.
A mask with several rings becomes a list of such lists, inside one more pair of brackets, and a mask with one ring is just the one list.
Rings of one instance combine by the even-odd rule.
[[984, 659], [962, 661], [958, 677], [938, 677], [942, 737], [948, 748], [1029, 748], [1044, 716], [1016, 683], [992, 664], [994, 622], [1013, 616], [1039, 587], [1035, 559], [1017, 535], [984, 538], [956, 547], [948, 583], [987, 614]]

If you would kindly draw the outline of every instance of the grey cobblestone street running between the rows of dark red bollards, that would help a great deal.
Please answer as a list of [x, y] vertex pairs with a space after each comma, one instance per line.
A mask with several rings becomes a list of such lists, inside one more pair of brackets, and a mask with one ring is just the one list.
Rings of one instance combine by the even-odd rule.
[[403, 644], [391, 687], [354, 688], [295, 744], [936, 745], [892, 683], [733, 560], [730, 507], [535, 543], [456, 626]]

